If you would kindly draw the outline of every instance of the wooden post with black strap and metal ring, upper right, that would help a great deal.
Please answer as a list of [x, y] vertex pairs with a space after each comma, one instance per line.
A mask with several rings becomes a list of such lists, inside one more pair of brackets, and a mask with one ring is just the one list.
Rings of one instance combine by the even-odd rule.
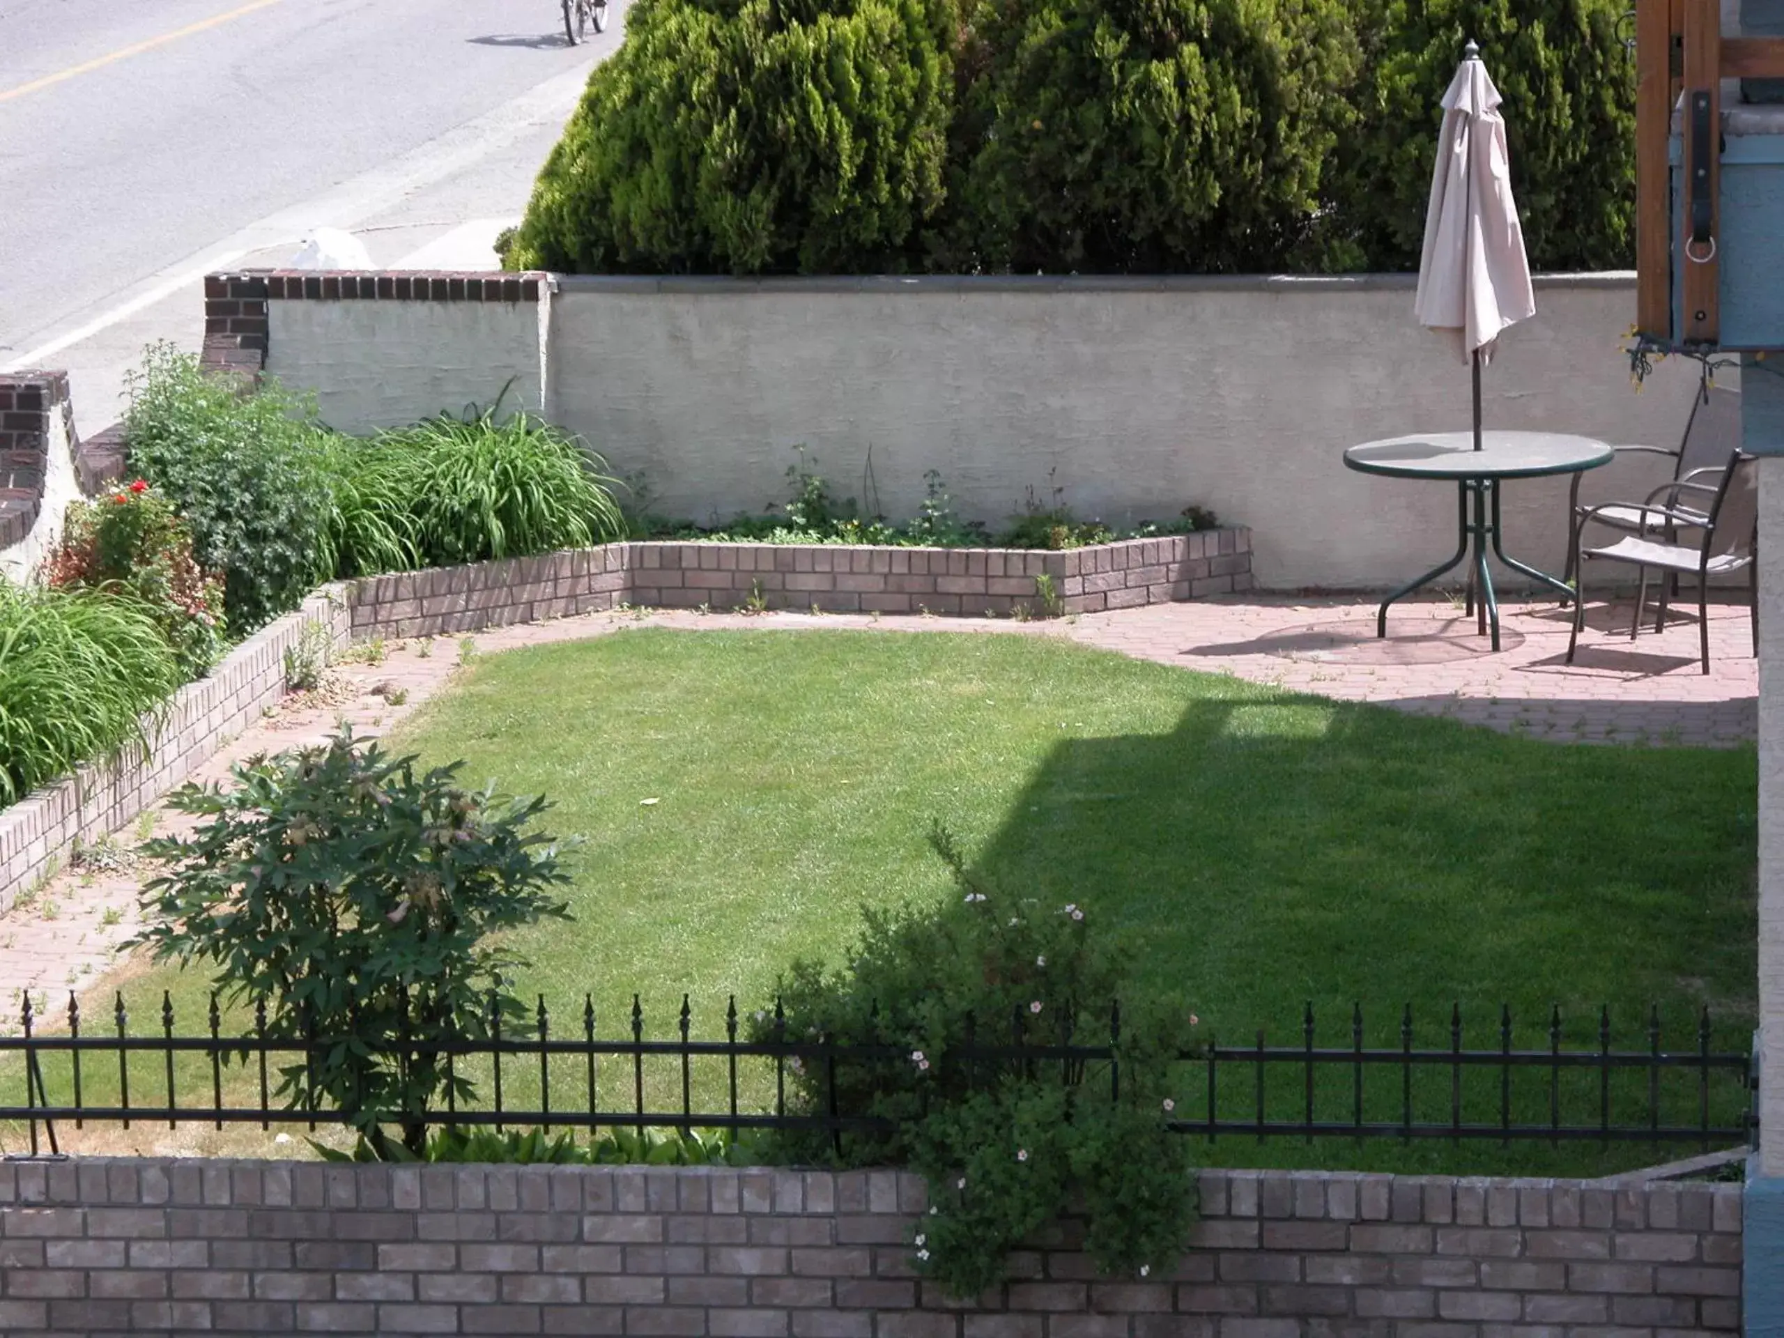
[[[1707, 121], [1707, 127], [1706, 127]], [[1684, 0], [1684, 200], [1679, 219], [1679, 273], [1684, 289], [1684, 343], [1714, 344], [1718, 191], [1722, 189], [1722, 5]], [[1707, 196], [1702, 196], [1707, 193]], [[1707, 241], [1693, 241], [1693, 196], [1707, 198]]]

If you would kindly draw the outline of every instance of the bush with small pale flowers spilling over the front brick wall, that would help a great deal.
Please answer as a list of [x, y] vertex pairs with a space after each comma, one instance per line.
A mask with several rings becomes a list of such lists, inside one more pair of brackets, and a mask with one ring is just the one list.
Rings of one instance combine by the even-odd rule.
[[[1119, 962], [1076, 904], [987, 887], [946, 831], [933, 837], [962, 899], [942, 913], [869, 912], [847, 970], [799, 963], [781, 981], [783, 1015], [760, 1012], [756, 1040], [828, 1038], [892, 1058], [790, 1065], [789, 1101], [890, 1119], [894, 1133], [851, 1133], [842, 1160], [917, 1167], [929, 1215], [912, 1238], [921, 1272], [970, 1297], [1003, 1277], [1004, 1256], [1067, 1210], [1106, 1270], [1176, 1258], [1193, 1220], [1185, 1140], [1169, 1131], [1172, 1063], [1195, 1019], [1165, 999], [1122, 999], [1120, 1097], [1108, 1065], [976, 1060], [974, 1045], [1108, 1044]], [[790, 1160], [830, 1154], [822, 1135], [783, 1136]]]

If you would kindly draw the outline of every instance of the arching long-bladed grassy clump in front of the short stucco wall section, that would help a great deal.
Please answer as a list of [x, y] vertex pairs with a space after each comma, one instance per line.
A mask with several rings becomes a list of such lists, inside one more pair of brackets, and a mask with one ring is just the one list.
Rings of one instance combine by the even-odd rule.
[[535, 417], [496, 414], [335, 439], [337, 574], [524, 557], [624, 533], [598, 455]]

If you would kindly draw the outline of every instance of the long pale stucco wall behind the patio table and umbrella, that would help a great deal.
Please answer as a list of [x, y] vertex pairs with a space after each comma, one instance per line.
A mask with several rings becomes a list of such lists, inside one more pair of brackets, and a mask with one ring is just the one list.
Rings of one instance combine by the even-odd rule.
[[[1454, 491], [1340, 462], [1468, 423], [1466, 366], [1413, 323], [1411, 277], [558, 284], [548, 414], [660, 514], [785, 500], [805, 444], [842, 494], [872, 448], [888, 514], [915, 508], [926, 469], [994, 523], [1049, 483], [1113, 523], [1213, 507], [1252, 526], [1265, 587], [1384, 587], [1454, 549]], [[1695, 364], [1638, 398], [1632, 314], [1632, 277], [1541, 280], [1486, 373], [1488, 425], [1677, 446]], [[1584, 494], [1663, 476], [1618, 462]], [[1565, 489], [1507, 485], [1507, 551], [1561, 567]]]

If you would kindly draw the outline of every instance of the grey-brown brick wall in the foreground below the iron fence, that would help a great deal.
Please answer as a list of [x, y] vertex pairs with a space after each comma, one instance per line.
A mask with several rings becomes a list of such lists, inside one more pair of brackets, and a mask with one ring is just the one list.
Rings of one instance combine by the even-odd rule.
[[[1739, 1329], [1741, 1186], [1201, 1174], [1169, 1276], [1072, 1224], [949, 1304], [892, 1172], [0, 1165], [0, 1331], [1672, 1338]], [[1527, 1327], [1515, 1327], [1527, 1326]]]

